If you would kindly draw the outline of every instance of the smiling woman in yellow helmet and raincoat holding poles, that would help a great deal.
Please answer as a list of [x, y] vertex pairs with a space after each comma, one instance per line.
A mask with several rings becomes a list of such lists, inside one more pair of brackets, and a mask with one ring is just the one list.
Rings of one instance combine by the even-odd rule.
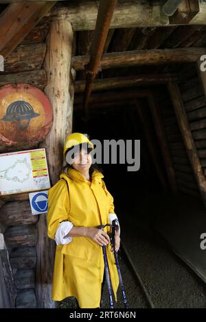
[[[117, 219], [113, 197], [106, 189], [102, 173], [92, 164], [93, 144], [80, 133], [67, 137], [64, 154], [67, 171], [48, 193], [48, 236], [56, 240], [52, 299], [76, 297], [80, 308], [99, 308], [106, 246], [108, 267], [115, 300], [119, 277], [114, 254], [108, 247], [109, 228], [99, 225]], [[71, 153], [72, 152], [72, 153]], [[115, 232], [118, 251], [119, 227]]]

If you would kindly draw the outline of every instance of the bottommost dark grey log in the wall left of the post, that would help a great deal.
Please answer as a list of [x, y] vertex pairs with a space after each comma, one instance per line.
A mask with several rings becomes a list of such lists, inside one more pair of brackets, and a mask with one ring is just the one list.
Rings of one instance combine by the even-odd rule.
[[33, 288], [21, 290], [16, 297], [16, 308], [37, 308], [36, 295]]

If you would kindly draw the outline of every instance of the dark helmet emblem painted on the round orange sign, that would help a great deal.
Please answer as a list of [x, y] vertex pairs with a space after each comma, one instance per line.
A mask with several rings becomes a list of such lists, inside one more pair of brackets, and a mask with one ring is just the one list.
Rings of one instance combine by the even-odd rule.
[[[32, 105], [26, 101], [14, 101], [10, 103], [6, 110], [6, 114], [1, 121], [16, 121], [22, 131], [26, 131], [30, 124], [30, 119], [39, 116], [34, 112]], [[23, 122], [26, 120], [26, 122]]]

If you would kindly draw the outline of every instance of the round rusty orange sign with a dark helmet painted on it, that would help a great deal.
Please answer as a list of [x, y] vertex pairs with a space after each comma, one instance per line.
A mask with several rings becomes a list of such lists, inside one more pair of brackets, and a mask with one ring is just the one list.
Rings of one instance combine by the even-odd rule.
[[41, 142], [53, 123], [48, 97], [29, 84], [0, 88], [0, 145]]

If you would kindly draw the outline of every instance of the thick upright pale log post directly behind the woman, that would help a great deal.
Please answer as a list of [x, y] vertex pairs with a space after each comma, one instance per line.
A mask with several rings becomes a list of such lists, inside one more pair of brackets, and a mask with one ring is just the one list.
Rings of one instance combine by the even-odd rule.
[[[40, 144], [45, 147], [52, 185], [56, 184], [62, 169], [62, 151], [65, 143], [67, 110], [69, 102], [69, 77], [73, 31], [67, 18], [52, 21], [47, 36], [47, 53], [45, 71], [48, 81], [45, 93], [54, 109], [54, 122], [49, 134]], [[71, 112], [72, 115], [72, 112]], [[54, 153], [56, 151], [56, 153]], [[55, 243], [47, 237], [47, 219], [42, 214], [37, 223], [38, 244], [36, 265], [36, 295], [39, 308], [54, 308], [56, 303], [51, 299], [52, 275], [55, 254]]]

